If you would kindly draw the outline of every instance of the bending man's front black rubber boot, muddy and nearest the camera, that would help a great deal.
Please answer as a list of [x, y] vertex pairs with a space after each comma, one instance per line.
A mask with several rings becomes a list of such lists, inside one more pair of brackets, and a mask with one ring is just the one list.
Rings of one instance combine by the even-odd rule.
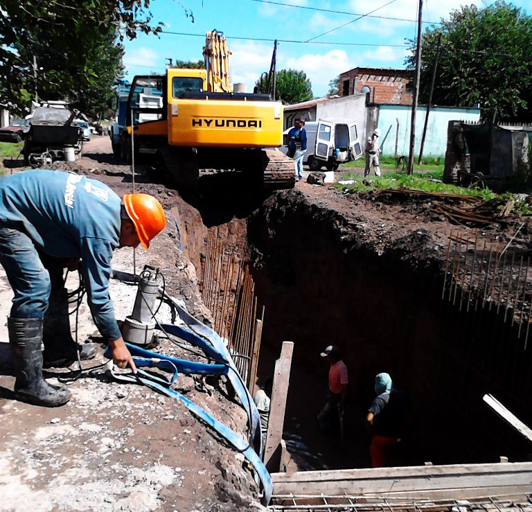
[[57, 407], [71, 392], [42, 378], [42, 319], [8, 318], [11, 364], [15, 373], [15, 398], [22, 402]]

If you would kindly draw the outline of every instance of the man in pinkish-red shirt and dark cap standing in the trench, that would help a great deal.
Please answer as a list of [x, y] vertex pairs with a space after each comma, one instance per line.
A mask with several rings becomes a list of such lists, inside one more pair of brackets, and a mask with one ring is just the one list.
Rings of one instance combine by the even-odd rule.
[[347, 367], [342, 361], [342, 353], [335, 345], [329, 345], [321, 354], [326, 357], [329, 368], [327, 401], [318, 414], [321, 430], [332, 430], [339, 426], [339, 417], [344, 412], [347, 395]]

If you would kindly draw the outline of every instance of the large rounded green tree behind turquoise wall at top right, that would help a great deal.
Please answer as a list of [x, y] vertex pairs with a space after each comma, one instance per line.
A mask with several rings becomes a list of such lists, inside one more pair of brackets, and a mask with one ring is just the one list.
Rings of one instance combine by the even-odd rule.
[[[427, 101], [441, 35], [441, 56], [432, 103], [479, 103], [483, 116], [531, 118], [532, 17], [511, 3], [462, 7], [423, 34], [420, 100]], [[407, 58], [414, 69], [415, 52]]]

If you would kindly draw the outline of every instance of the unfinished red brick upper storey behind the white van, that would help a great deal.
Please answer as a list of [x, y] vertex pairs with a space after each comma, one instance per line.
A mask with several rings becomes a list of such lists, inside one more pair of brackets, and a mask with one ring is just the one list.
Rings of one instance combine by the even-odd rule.
[[357, 67], [340, 74], [339, 96], [369, 93], [371, 103], [411, 105], [410, 71]]

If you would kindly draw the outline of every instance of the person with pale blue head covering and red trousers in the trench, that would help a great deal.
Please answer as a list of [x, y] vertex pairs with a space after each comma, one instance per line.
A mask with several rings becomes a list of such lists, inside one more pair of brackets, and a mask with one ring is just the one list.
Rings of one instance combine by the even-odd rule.
[[395, 389], [388, 373], [375, 377], [377, 396], [366, 416], [366, 426], [371, 434], [371, 467], [393, 466], [398, 443], [403, 435], [405, 415], [410, 407], [407, 395]]

